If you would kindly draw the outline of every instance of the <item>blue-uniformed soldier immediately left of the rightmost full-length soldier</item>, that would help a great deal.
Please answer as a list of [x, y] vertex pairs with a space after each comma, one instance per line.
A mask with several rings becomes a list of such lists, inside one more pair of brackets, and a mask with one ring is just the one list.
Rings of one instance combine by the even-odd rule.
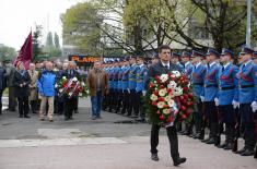
[[215, 104], [219, 106], [220, 125], [225, 123], [225, 142], [220, 148], [232, 149], [233, 137], [235, 134], [235, 109], [240, 107], [238, 102], [238, 80], [236, 74], [238, 68], [232, 63], [234, 52], [229, 49], [222, 49], [221, 62], [223, 67], [219, 70], [219, 94]]

